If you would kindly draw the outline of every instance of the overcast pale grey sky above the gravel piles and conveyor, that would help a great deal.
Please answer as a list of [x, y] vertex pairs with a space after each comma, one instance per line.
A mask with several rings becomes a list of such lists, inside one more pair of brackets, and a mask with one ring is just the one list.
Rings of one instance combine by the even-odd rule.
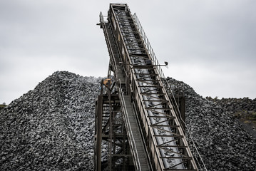
[[[113, 1], [0, 0], [0, 103], [11, 103], [55, 71], [106, 76], [99, 13]], [[256, 98], [256, 1], [127, 3], [165, 76], [200, 95]]]

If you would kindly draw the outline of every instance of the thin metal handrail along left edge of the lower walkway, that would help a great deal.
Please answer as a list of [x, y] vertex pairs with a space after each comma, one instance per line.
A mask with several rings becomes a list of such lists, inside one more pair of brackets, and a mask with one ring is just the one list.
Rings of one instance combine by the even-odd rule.
[[138, 161], [138, 165], [136, 165], [137, 170], [141, 170], [140, 158], [138, 157], [138, 150], [137, 150], [137, 147], [135, 145], [135, 140], [133, 138], [133, 134], [131, 133], [132, 130], [130, 128], [130, 121], [128, 120], [128, 111], [127, 111], [126, 103], [125, 103], [125, 100], [124, 100], [124, 97], [123, 97], [123, 90], [121, 88], [121, 80], [120, 79], [118, 80], [118, 84], [119, 84], [119, 86], [118, 86], [119, 93], [118, 94], [119, 94], [119, 98], [121, 99], [121, 106], [123, 106], [124, 107], [123, 109], [125, 110], [125, 111], [123, 111], [123, 114], [126, 118], [126, 123], [128, 123], [128, 125], [126, 125], [126, 126], [128, 126], [127, 129], [129, 130], [127, 132], [128, 132], [128, 135], [130, 136], [130, 141], [131, 141], [130, 142], [130, 147], [133, 149], [133, 153], [135, 155], [134, 159]]

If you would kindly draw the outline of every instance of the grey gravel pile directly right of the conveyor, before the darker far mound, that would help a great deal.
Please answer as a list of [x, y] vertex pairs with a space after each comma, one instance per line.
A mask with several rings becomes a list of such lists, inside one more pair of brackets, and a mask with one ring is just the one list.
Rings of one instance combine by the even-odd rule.
[[[178, 82], [169, 79], [170, 82]], [[203, 98], [185, 83], [178, 83], [183, 84], [186, 97], [185, 123], [206, 168], [255, 170], [256, 138], [242, 128], [231, 115], [230, 108]]]

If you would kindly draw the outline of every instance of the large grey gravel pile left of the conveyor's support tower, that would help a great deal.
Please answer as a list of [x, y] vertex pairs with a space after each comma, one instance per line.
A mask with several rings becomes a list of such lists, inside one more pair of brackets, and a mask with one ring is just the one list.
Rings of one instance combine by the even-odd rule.
[[99, 79], [56, 72], [0, 113], [0, 170], [93, 170]]

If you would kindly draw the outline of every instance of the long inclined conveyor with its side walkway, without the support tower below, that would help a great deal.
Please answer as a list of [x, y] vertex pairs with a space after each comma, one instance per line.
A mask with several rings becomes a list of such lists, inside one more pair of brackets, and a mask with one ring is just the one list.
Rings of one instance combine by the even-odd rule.
[[135, 170], [198, 170], [138, 19], [126, 4], [111, 4], [108, 21], [100, 19], [114, 82], [108, 93], [118, 92]]

